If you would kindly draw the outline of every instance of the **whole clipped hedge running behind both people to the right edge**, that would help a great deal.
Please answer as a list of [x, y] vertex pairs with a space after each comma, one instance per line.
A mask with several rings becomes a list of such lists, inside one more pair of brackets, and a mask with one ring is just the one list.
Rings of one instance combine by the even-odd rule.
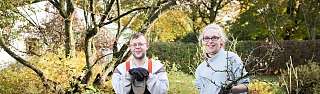
[[[192, 73], [201, 60], [197, 56], [197, 48], [199, 48], [198, 44], [194, 43], [157, 42], [151, 44], [149, 54], [158, 57], [169, 67], [176, 64], [179, 70]], [[290, 60], [290, 56], [295, 66], [305, 64], [308, 60], [320, 62], [320, 40], [287, 40], [279, 43], [239, 41], [235, 52], [245, 62], [247, 70], [253, 68], [257, 62], [262, 62], [254, 68], [268, 66], [266, 70], [261, 72], [276, 74], [279, 69], [286, 69], [286, 63]]]

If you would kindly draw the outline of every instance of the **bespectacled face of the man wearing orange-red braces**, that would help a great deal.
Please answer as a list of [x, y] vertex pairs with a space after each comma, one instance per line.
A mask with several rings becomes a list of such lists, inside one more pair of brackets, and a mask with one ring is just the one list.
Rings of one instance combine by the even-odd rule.
[[148, 42], [143, 35], [133, 37], [130, 41], [130, 51], [135, 59], [143, 59], [148, 50]]

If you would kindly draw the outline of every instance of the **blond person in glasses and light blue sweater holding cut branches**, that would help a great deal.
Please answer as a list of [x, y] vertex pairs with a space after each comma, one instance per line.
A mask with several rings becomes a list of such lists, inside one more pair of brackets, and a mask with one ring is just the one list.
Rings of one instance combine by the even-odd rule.
[[[196, 87], [200, 94], [246, 93], [249, 78], [240, 57], [224, 50], [227, 37], [224, 29], [217, 24], [210, 24], [200, 34], [199, 41], [204, 48], [204, 61], [195, 72]], [[238, 78], [243, 78], [236, 81]], [[231, 87], [227, 84], [236, 81]], [[229, 90], [225, 92], [226, 90]]]

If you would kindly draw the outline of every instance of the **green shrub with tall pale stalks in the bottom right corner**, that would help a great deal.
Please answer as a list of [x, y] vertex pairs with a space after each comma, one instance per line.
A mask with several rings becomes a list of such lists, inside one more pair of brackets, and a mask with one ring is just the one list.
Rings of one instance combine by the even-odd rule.
[[282, 71], [282, 83], [292, 94], [317, 94], [320, 92], [320, 65], [312, 62]]

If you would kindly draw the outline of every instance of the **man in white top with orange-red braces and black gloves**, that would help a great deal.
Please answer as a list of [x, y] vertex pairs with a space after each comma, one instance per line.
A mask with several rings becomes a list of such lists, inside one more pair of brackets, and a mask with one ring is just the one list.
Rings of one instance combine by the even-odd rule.
[[130, 39], [132, 56], [119, 64], [112, 75], [116, 94], [166, 94], [169, 87], [167, 73], [159, 60], [146, 57], [148, 42], [142, 33]]

